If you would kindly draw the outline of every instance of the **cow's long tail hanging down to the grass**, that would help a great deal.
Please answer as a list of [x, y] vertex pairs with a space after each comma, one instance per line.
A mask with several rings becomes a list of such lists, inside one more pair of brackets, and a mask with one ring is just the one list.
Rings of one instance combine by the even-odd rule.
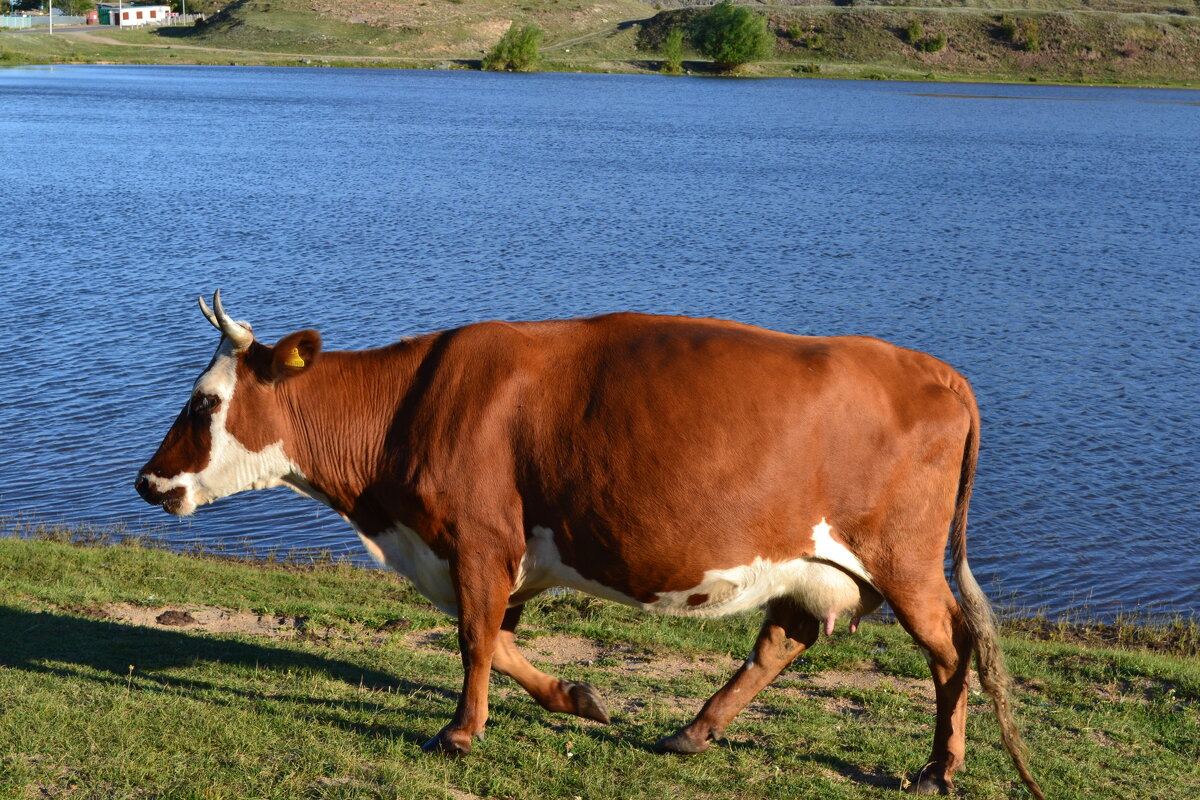
[[962, 398], [971, 414], [971, 428], [967, 433], [962, 452], [962, 471], [959, 475], [959, 492], [954, 503], [954, 522], [950, 527], [950, 555], [954, 561], [954, 581], [959, 587], [959, 606], [967, 630], [974, 639], [979, 682], [991, 698], [1000, 723], [1000, 735], [1013, 757], [1013, 764], [1021, 781], [1038, 800], [1044, 800], [1042, 788], [1030, 774], [1025, 763], [1025, 744], [1016, 729], [1013, 709], [1009, 703], [1008, 687], [1012, 682], [1004, 667], [1004, 655], [1000, 650], [996, 636], [996, 619], [991, 603], [976, 582], [967, 565], [967, 505], [971, 503], [971, 489], [974, 486], [976, 463], [979, 461], [979, 408], [976, 405], [974, 392], [966, 380], [956, 381], [954, 391]]

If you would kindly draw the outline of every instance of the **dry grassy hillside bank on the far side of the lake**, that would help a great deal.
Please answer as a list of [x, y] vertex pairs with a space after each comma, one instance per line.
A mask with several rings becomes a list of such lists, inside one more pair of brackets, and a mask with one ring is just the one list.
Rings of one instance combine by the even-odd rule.
[[[653, 72], [691, 2], [635, 0], [235, 0], [161, 30], [0, 32], [0, 65], [253, 64], [475, 68], [509, 24], [545, 32], [542, 68]], [[748, 74], [1200, 86], [1198, 0], [912, 0], [749, 4], [775, 54]], [[688, 7], [676, 7], [688, 6]], [[920, 24], [924, 37], [910, 42]], [[936, 50], [925, 40], [944, 38]], [[685, 66], [712, 65], [695, 52]]]

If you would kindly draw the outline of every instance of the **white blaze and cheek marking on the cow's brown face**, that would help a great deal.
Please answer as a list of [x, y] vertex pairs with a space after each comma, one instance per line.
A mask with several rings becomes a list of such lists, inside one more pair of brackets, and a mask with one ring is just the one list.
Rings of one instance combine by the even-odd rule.
[[[175, 488], [185, 491], [182, 500], [174, 509], [180, 516], [238, 492], [268, 489], [284, 483], [307, 486], [304, 474], [283, 453], [282, 440], [252, 452], [228, 432], [226, 422], [236, 386], [238, 355], [233, 343], [222, 338], [212, 363], [192, 386], [193, 395], [215, 395], [221, 398], [209, 429], [209, 463], [198, 473], [181, 473], [173, 477], [146, 476], [158, 492], [166, 493]], [[301, 488], [296, 491], [304, 493]]]

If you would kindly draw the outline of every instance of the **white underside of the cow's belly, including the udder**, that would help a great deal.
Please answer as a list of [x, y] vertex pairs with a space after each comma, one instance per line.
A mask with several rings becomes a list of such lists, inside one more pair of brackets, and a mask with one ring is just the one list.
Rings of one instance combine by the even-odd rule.
[[[643, 603], [586, 578], [575, 567], [564, 564], [554, 546], [553, 531], [535, 527], [530, 531], [510, 602], [524, 602], [551, 587], [569, 587], [660, 614], [719, 616], [756, 608], [778, 597], [791, 597], [822, 620], [846, 612], [870, 613], [882, 599], [870, 588], [869, 575], [858, 558], [834, 542], [829, 530], [823, 519], [814, 527], [817, 552], [811, 558], [779, 563], [755, 558], [743, 566], [708, 570], [691, 589], [659, 593], [658, 600]], [[841, 569], [842, 565], [845, 569]], [[847, 569], [852, 569], [863, 583], [847, 575]]]

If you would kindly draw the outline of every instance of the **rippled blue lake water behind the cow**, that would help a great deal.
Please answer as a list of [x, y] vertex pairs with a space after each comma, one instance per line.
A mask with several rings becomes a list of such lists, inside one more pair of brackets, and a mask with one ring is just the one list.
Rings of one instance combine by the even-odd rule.
[[[0, 517], [328, 548], [132, 491], [221, 287], [334, 349], [613, 309], [870, 333], [971, 378], [972, 565], [1196, 614], [1200, 92], [238, 67], [0, 71]], [[13, 522], [16, 521], [16, 522]]]

